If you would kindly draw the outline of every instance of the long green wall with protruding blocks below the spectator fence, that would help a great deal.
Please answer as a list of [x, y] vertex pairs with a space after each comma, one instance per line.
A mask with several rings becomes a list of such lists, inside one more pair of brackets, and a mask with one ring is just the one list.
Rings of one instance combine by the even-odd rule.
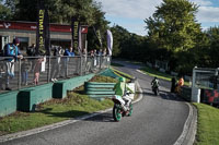
[[13, 113], [16, 110], [34, 111], [37, 104], [49, 100], [53, 97], [64, 98], [67, 96], [67, 90], [72, 90], [83, 85], [85, 81], [89, 81], [93, 76], [94, 74], [89, 74], [0, 94], [0, 117]]

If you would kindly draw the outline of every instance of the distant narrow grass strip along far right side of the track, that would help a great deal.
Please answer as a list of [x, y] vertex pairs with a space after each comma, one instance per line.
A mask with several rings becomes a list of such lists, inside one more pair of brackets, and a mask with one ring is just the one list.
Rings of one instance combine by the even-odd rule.
[[[146, 73], [146, 74], [148, 74], [150, 76], [153, 76], [153, 77], [157, 76], [158, 78], [162, 78], [162, 80], [165, 80], [165, 81], [171, 81], [171, 78], [173, 77], [170, 74], [153, 70], [153, 69], [151, 69], [149, 67], [143, 67], [143, 68], [140, 69], [140, 71], [142, 71], [143, 73]], [[184, 85], [189, 86], [189, 82], [185, 81]]]

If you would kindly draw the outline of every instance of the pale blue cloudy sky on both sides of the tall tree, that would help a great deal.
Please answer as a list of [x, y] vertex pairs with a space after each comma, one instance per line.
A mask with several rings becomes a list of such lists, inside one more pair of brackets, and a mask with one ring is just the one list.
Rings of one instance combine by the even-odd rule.
[[[102, 3], [110, 26], [119, 25], [130, 33], [147, 35], [146, 19], [151, 16], [162, 0], [95, 0]], [[219, 0], [189, 0], [197, 4], [196, 20], [203, 29], [219, 26]]]

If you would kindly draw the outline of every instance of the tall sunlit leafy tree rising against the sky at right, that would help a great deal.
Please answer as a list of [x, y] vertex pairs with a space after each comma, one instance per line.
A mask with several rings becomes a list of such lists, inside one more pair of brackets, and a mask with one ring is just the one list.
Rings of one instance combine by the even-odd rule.
[[[195, 20], [197, 10], [198, 7], [188, 0], [163, 0], [152, 17], [145, 20], [150, 43], [157, 46], [155, 49], [165, 49], [172, 53], [166, 56], [166, 60], [184, 60], [183, 52], [196, 46], [200, 34], [200, 24]], [[181, 63], [172, 65], [172, 69], [176, 65]]]

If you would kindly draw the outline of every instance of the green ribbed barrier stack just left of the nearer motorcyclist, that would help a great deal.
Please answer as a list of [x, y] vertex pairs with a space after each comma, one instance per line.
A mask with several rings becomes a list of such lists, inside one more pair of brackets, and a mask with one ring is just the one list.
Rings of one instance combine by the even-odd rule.
[[103, 97], [112, 97], [115, 94], [113, 90], [114, 86], [115, 83], [85, 82], [84, 90], [91, 98], [100, 99]]

